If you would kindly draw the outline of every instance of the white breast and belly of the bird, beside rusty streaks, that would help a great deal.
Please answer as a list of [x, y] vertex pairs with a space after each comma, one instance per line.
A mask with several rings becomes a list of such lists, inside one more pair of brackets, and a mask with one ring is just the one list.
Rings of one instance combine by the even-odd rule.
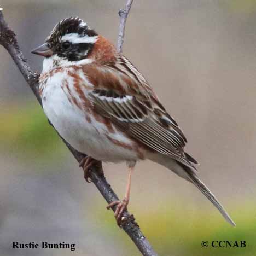
[[[68, 98], [65, 83], [68, 83], [72, 96], [77, 95], [77, 93], [74, 89], [74, 81], [67, 73], [67, 68], [65, 71], [54, 73], [40, 84], [43, 88], [44, 112], [55, 129], [72, 147], [97, 160], [136, 161], [137, 152], [131, 149], [134, 147], [134, 142], [114, 127], [114, 132], [109, 132], [104, 123], [96, 120], [98, 118], [86, 113], [84, 109], [80, 109]], [[83, 81], [86, 86], [90, 85], [86, 77], [83, 77]], [[85, 86], [82, 88], [87, 97], [88, 91]], [[78, 95], [74, 97], [79, 101]], [[117, 143], [113, 143], [113, 141]], [[126, 147], [121, 147], [122, 144], [125, 144]]]

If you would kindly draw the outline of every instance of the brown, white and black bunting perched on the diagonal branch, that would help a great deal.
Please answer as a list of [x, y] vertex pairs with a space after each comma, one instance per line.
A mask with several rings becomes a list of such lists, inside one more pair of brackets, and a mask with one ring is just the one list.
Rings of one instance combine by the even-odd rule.
[[197, 174], [198, 162], [184, 148], [187, 139], [141, 72], [107, 38], [78, 17], [55, 25], [45, 43], [39, 94], [46, 116], [73, 148], [88, 181], [95, 161], [126, 162], [124, 200], [114, 201], [118, 224], [130, 201], [137, 161], [149, 159], [195, 185], [236, 226]]

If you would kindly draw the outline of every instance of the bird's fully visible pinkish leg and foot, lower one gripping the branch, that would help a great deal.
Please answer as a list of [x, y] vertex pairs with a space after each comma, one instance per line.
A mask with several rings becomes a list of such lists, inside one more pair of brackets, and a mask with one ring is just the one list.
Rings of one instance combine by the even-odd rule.
[[134, 166], [129, 167], [129, 177], [128, 177], [126, 191], [125, 191], [125, 197], [124, 197], [123, 201], [114, 201], [112, 203], [109, 203], [109, 205], [107, 206], [107, 209], [109, 210], [112, 206], [117, 205], [117, 208], [115, 208], [114, 216], [115, 216], [115, 219], [117, 220], [118, 225], [121, 224], [122, 214], [124, 211], [127, 211], [127, 205], [130, 200], [131, 176], [132, 176], [133, 168], [134, 168]]

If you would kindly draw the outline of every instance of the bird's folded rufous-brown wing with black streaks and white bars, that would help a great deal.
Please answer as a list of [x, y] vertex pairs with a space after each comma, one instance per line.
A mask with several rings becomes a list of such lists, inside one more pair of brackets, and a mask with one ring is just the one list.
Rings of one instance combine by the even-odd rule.
[[196, 160], [184, 152], [182, 130], [129, 60], [119, 56], [114, 63], [87, 66], [84, 72], [95, 86], [89, 96], [98, 114], [144, 146], [195, 169]]

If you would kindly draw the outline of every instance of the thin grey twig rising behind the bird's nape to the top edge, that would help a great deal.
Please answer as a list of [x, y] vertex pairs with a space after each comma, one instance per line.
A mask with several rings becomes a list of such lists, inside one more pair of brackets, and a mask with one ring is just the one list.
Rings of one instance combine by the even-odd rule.
[[131, 9], [132, 2], [133, 2], [133, 0], [127, 0], [125, 9], [124, 10], [121, 9], [118, 12], [119, 17], [120, 17], [118, 43], [117, 43], [118, 53], [121, 53], [123, 51], [125, 24], [126, 24], [127, 16]]

